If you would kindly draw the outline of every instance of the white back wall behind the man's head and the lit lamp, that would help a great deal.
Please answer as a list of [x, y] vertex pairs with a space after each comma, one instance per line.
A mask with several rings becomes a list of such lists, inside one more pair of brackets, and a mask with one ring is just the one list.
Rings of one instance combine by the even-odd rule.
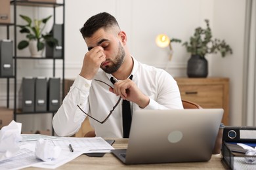
[[[66, 68], [71, 69], [71, 71], [66, 71], [68, 77], [74, 77], [74, 69], [77, 69], [79, 73], [81, 61], [87, 51], [87, 46], [78, 30], [89, 17], [98, 12], [106, 11], [116, 16], [121, 29], [128, 35], [128, 45], [135, 58], [143, 63], [162, 68], [165, 68], [168, 61], [169, 49], [156, 46], [156, 36], [166, 33], [169, 37], [177, 37], [185, 41], [193, 33], [195, 27], [204, 25], [205, 18], [212, 20], [213, 17], [212, 0], [81, 0], [79, 6], [72, 1], [66, 1], [66, 3], [66, 23], [69, 20], [72, 22], [72, 25], [66, 27], [66, 42], [77, 43], [75, 50], [66, 48]], [[73, 22], [74, 18], [76, 22]], [[168, 71], [173, 76], [186, 76], [186, 60], [189, 55], [186, 54], [181, 44], [173, 44], [173, 47], [175, 54], [173, 61], [169, 63]]]

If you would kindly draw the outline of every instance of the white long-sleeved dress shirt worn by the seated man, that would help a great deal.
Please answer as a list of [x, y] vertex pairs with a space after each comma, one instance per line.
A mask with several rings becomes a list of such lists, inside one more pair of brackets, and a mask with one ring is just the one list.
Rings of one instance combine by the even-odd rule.
[[[142, 93], [150, 97], [150, 103], [144, 109], [183, 109], [177, 82], [169, 73], [163, 69], [142, 64], [135, 58], [133, 61], [131, 73], [133, 82], [137, 84]], [[93, 80], [87, 80], [79, 75], [75, 78], [68, 95], [53, 118], [53, 127], [57, 135], [71, 136], [79, 130], [87, 115], [81, 112], [77, 105], [99, 121], [108, 116], [119, 96], [110, 92], [109, 86], [95, 79], [113, 86], [110, 82], [111, 77], [111, 74], [99, 69]], [[121, 104], [122, 100], [104, 124], [89, 118], [96, 136], [123, 137]], [[137, 109], [140, 109], [139, 105], [131, 102], [132, 114]]]

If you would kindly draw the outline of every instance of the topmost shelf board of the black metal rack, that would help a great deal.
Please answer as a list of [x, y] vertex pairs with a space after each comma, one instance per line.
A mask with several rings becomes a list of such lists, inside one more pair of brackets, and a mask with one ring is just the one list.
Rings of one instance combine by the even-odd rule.
[[[15, 1], [10, 2], [14, 5]], [[16, 1], [16, 5], [28, 6], [28, 7], [61, 7], [62, 3], [49, 3], [49, 2], [34, 2], [34, 1]]]

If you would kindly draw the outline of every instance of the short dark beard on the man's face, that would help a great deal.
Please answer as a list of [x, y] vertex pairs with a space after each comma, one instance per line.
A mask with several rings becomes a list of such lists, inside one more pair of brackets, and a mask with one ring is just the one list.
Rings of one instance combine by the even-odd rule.
[[[121, 46], [121, 43], [118, 44], [118, 52], [116, 55], [116, 58], [114, 61], [112, 61], [112, 65], [107, 65], [106, 67], [100, 67], [103, 71], [105, 71], [108, 74], [112, 74], [116, 72], [123, 63], [123, 59], [125, 58], [125, 50], [123, 49], [123, 46]], [[107, 59], [106, 61], [111, 61], [110, 59]]]

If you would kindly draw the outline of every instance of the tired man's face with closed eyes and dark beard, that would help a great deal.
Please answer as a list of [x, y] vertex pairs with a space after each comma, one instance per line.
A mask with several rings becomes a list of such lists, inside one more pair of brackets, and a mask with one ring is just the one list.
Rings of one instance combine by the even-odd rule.
[[95, 46], [101, 46], [106, 55], [106, 61], [102, 62], [100, 68], [106, 73], [116, 72], [125, 58], [125, 50], [119, 41], [118, 33], [116, 31], [105, 31], [98, 29], [92, 37], [85, 38], [88, 50]]

